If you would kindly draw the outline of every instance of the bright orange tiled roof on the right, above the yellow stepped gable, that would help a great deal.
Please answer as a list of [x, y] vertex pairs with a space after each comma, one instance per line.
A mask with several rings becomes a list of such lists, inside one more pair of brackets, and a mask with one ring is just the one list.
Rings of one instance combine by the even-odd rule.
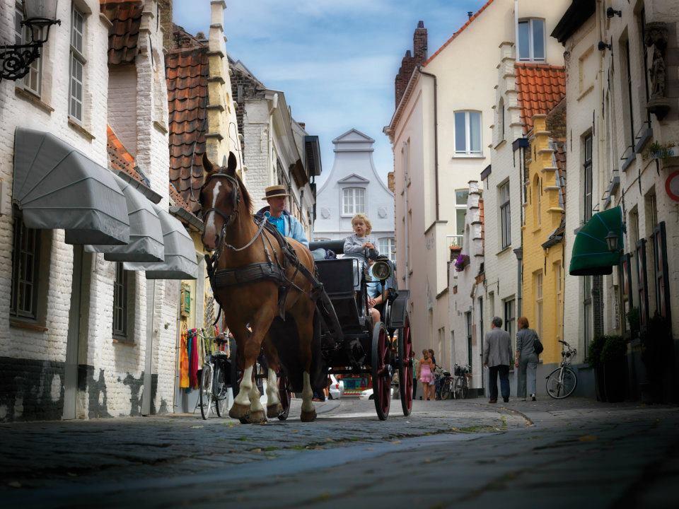
[[523, 132], [533, 129], [533, 115], [547, 115], [566, 95], [566, 69], [547, 64], [514, 64]]

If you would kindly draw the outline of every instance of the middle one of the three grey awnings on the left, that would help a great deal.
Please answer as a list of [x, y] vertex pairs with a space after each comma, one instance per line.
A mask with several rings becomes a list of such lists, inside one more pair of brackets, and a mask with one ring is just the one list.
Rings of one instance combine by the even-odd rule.
[[151, 201], [120, 177], [113, 177], [127, 200], [129, 244], [88, 245], [88, 252], [102, 252], [109, 262], [163, 262], [163, 228]]

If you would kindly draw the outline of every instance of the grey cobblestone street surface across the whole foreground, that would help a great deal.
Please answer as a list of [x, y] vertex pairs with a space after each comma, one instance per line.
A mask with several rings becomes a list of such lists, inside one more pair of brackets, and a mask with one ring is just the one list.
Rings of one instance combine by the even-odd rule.
[[679, 409], [584, 399], [319, 404], [314, 423], [160, 416], [0, 425], [8, 506], [675, 508]]

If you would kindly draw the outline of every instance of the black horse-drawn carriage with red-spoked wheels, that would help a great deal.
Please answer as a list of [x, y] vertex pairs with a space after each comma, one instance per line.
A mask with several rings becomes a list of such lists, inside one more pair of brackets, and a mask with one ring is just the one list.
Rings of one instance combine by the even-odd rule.
[[[310, 249], [342, 254], [343, 240], [311, 242]], [[359, 259], [316, 261], [323, 291], [316, 304], [315, 334], [323, 373], [369, 375], [379, 419], [389, 415], [397, 373], [403, 414], [412, 409], [413, 357], [407, 290], [397, 290], [393, 263], [378, 259], [372, 268], [383, 302], [381, 322], [373, 324], [368, 306], [368, 274]], [[327, 376], [327, 375], [325, 375]]]

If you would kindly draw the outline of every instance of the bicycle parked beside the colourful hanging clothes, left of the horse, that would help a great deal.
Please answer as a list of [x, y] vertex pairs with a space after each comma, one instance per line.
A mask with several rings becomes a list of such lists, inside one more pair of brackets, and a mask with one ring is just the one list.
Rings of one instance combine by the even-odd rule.
[[[228, 339], [220, 335], [214, 338], [214, 342], [219, 346], [226, 344]], [[200, 406], [200, 415], [206, 421], [213, 406], [217, 416], [226, 416], [226, 409], [228, 408], [227, 373], [231, 373], [231, 364], [226, 352], [218, 349], [208, 356], [200, 375], [198, 406]]]

